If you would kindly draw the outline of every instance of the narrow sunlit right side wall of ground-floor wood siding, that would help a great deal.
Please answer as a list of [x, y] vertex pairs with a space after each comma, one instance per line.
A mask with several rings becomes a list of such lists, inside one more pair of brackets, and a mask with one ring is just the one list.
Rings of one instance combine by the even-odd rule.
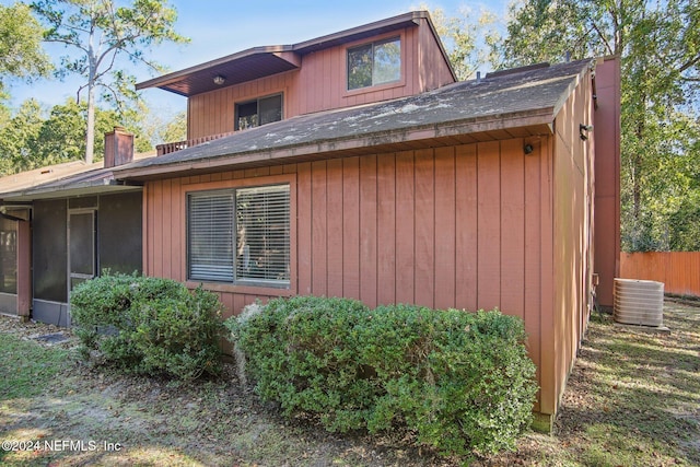
[[[553, 138], [553, 276], [555, 303], [551, 315], [542, 306], [540, 351], [553, 355], [552, 394], [542, 393], [542, 411], [556, 413], [564, 384], [588, 320], [593, 275], [593, 147], [582, 140], [579, 125], [593, 121], [590, 75], [571, 93], [555, 120]], [[542, 275], [542, 280], [547, 278]], [[547, 295], [544, 295], [547, 296]], [[545, 347], [546, 346], [546, 347]], [[549, 365], [542, 365], [548, 369]], [[551, 397], [551, 398], [550, 398]]]

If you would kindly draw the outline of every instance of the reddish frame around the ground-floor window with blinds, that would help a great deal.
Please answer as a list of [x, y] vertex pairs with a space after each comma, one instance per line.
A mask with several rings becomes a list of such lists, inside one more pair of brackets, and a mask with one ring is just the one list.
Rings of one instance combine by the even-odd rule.
[[[236, 244], [237, 244], [237, 232], [235, 225], [235, 192], [240, 189], [244, 188], [258, 188], [258, 187], [269, 187], [269, 186], [288, 186], [289, 189], [289, 222], [288, 222], [288, 252], [287, 252], [287, 268], [289, 271], [289, 278], [287, 280], [269, 280], [269, 279], [249, 279], [249, 278], [236, 278]], [[222, 183], [217, 184], [195, 184], [189, 187], [187, 191], [185, 191], [185, 200], [184, 200], [184, 238], [185, 242], [183, 245], [183, 277], [186, 278], [185, 281], [188, 287], [197, 287], [198, 284], [207, 284], [208, 290], [218, 291], [218, 292], [233, 292], [233, 293], [254, 293], [254, 294], [275, 294], [275, 295], [291, 295], [294, 293], [296, 289], [296, 195], [295, 195], [295, 177], [290, 177], [287, 175], [279, 176], [264, 176], [259, 178], [250, 178], [250, 179], [230, 179]], [[225, 194], [229, 192], [232, 195], [233, 207], [233, 223], [232, 223], [232, 252], [233, 252], [233, 279], [231, 281], [218, 281], [214, 279], [196, 279], [190, 275], [190, 196], [197, 195], [209, 195], [209, 194]]]

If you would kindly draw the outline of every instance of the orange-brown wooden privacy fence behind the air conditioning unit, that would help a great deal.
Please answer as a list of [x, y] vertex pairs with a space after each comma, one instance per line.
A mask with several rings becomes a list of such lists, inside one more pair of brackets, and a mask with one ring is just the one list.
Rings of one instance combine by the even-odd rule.
[[700, 296], [700, 252], [621, 253], [620, 277], [664, 282], [664, 292]]

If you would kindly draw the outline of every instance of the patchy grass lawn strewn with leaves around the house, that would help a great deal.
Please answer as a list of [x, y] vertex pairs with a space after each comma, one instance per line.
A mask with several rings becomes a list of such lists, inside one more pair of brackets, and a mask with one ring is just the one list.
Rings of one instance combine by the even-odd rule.
[[669, 334], [594, 316], [552, 435], [514, 453], [441, 458], [410, 433], [326, 433], [221, 381], [176, 384], [80, 363], [75, 340], [0, 317], [2, 466], [700, 465], [700, 307], [666, 302]]

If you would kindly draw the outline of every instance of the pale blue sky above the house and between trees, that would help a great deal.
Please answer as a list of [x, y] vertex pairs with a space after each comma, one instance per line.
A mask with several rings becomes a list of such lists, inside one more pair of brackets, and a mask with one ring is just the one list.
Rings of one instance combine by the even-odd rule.
[[[175, 30], [190, 39], [186, 45], [162, 45], [152, 49], [152, 56], [170, 71], [250, 47], [300, 43], [424, 7], [442, 9], [447, 16], [456, 16], [464, 9], [478, 14], [482, 7], [501, 16], [505, 12], [504, 0], [489, 3], [480, 0], [171, 0], [170, 4], [178, 13]], [[48, 51], [55, 59], [67, 52], [56, 45]], [[137, 81], [156, 75], [145, 69], [129, 71], [137, 75]], [[30, 97], [50, 107], [75, 96], [80, 84], [77, 79], [31, 84], [14, 81], [9, 91], [14, 107]], [[184, 110], [187, 104], [185, 97], [159, 89], [144, 90], [142, 96], [152, 110], [166, 115]]]

